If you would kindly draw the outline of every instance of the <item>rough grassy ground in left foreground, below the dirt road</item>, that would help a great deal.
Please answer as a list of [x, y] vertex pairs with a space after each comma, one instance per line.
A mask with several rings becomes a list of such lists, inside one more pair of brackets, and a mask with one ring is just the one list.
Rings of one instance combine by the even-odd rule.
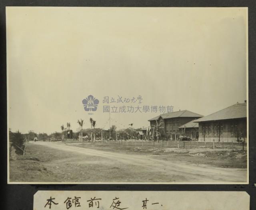
[[145, 170], [140, 166], [112, 163], [98, 156], [85, 156], [28, 144], [26, 155], [10, 160], [10, 182], [175, 182], [183, 176]]

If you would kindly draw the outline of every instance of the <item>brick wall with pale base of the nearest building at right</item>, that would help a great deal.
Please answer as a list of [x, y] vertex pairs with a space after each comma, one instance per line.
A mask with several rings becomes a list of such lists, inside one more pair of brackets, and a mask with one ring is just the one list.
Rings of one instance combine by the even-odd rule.
[[201, 142], [236, 142], [246, 140], [246, 136], [246, 118], [199, 122], [198, 141]]

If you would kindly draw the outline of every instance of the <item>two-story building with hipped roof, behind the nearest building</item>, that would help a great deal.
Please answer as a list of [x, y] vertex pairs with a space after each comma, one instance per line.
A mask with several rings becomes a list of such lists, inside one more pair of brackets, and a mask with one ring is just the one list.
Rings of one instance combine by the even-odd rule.
[[182, 135], [179, 130], [181, 125], [202, 117], [201, 114], [188, 110], [160, 114], [148, 120], [150, 122], [151, 136], [156, 136], [157, 133], [160, 133], [162, 137], [178, 140], [179, 136]]

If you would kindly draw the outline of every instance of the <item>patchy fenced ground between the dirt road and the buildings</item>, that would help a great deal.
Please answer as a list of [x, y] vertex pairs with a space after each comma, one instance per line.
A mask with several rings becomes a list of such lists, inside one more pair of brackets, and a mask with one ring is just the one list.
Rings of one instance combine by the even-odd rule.
[[[196, 142], [194, 142], [194, 144], [195, 143]], [[204, 145], [204, 142], [202, 143]], [[137, 144], [130, 142], [128, 145], [120, 145], [117, 142], [112, 142], [111, 144], [101, 142], [66, 142], [65, 144], [108, 152], [148, 155], [160, 160], [178, 160], [179, 162], [186, 162], [185, 164], [208, 164], [210, 166], [224, 168], [247, 167], [247, 151], [243, 151], [241, 146], [231, 146], [231, 144], [225, 145], [224, 148], [221, 146], [216, 147], [215, 149], [210, 148], [209, 145], [207, 145], [207, 147], [195, 145], [192, 147], [188, 146], [186, 148], [176, 148], [175, 144], [177, 144], [177, 142], [169, 143], [169, 146], [172, 147], [166, 147], [166, 143], [164, 147], [162, 147], [162, 143], [156, 143], [155, 146], [153, 146], [152, 142], [150, 142], [151, 145], [148, 143], [145, 144], [145, 142], [143, 145], [142, 142], [137, 142]], [[188, 144], [188, 142], [186, 144]]]

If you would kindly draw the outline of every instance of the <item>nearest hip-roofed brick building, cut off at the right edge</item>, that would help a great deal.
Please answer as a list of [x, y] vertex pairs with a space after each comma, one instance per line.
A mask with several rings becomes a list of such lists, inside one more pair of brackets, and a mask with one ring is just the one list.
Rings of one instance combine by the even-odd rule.
[[201, 142], [236, 142], [247, 139], [247, 106], [236, 103], [194, 122], [199, 124]]

